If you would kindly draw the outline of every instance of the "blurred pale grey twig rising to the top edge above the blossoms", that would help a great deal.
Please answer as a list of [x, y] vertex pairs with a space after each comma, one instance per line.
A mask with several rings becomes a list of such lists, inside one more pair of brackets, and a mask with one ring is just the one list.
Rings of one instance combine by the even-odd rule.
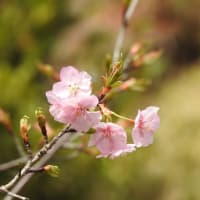
[[115, 43], [115, 48], [114, 48], [114, 52], [113, 52], [113, 59], [112, 59], [113, 63], [119, 61], [120, 52], [122, 50], [122, 45], [123, 45], [128, 21], [129, 21], [130, 17], [133, 15], [137, 3], [138, 3], [138, 0], [131, 0], [126, 13], [124, 14], [122, 24], [121, 24], [121, 27], [120, 27], [120, 30], [119, 30], [119, 33], [118, 33], [118, 36], [117, 36], [116, 43]]

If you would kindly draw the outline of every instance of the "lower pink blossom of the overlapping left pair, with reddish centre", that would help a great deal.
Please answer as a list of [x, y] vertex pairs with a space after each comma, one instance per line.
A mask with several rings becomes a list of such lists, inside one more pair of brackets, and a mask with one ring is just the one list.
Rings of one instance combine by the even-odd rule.
[[101, 120], [99, 111], [90, 111], [98, 104], [98, 98], [94, 95], [61, 99], [47, 93], [47, 98], [52, 104], [49, 111], [54, 119], [70, 124], [77, 131], [86, 132]]

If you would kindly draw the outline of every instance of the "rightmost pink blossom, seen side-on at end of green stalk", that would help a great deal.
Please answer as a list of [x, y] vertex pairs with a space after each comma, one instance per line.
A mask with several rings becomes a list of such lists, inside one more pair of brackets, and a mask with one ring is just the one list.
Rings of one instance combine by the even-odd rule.
[[136, 147], [146, 147], [153, 143], [154, 132], [160, 125], [160, 117], [157, 114], [158, 110], [158, 107], [149, 106], [145, 110], [138, 111], [135, 127], [132, 131]]

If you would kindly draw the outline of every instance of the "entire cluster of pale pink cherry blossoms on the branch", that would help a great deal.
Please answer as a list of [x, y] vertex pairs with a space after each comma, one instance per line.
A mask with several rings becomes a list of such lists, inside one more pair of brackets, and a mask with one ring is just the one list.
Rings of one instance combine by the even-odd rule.
[[88, 146], [97, 147], [101, 153], [98, 157], [115, 158], [152, 144], [154, 132], [160, 124], [158, 107], [138, 111], [132, 130], [134, 142], [127, 144], [127, 134], [122, 126], [101, 121], [102, 114], [97, 107], [99, 100], [91, 90], [91, 76], [72, 66], [61, 69], [60, 81], [46, 92], [46, 96], [51, 104], [49, 111], [56, 121], [68, 124], [78, 132], [95, 130]]

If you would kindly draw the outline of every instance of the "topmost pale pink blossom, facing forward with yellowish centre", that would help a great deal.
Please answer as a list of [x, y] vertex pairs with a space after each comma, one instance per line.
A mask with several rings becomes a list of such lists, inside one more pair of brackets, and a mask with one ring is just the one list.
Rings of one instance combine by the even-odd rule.
[[91, 76], [72, 66], [63, 67], [60, 71], [60, 81], [53, 85], [51, 92], [59, 98], [90, 95]]

